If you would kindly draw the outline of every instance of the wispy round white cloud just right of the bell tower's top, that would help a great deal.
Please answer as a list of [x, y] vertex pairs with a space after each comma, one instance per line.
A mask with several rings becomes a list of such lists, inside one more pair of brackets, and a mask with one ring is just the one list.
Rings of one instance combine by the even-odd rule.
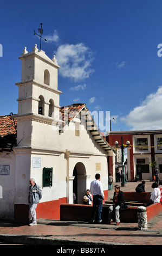
[[63, 44], [57, 48], [55, 53], [60, 65], [60, 75], [72, 78], [74, 81], [88, 78], [94, 70], [90, 68], [93, 53], [83, 43], [70, 45]]

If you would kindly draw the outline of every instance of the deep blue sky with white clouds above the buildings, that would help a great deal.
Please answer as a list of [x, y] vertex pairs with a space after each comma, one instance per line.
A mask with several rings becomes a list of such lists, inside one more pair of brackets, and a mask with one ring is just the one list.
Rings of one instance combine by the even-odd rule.
[[42, 50], [60, 65], [60, 106], [109, 111], [113, 131], [162, 129], [161, 13], [161, 0], [1, 1], [0, 115], [17, 113], [18, 57], [40, 48], [43, 23]]

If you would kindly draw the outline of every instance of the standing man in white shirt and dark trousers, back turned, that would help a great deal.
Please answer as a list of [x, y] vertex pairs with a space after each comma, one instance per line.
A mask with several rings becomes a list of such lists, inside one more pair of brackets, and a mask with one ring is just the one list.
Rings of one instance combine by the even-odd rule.
[[103, 188], [101, 184], [101, 177], [100, 174], [97, 173], [95, 175], [94, 181], [91, 182], [90, 184], [90, 193], [93, 195], [93, 208], [92, 208], [92, 216], [91, 216], [91, 221], [90, 223], [94, 223], [95, 221], [95, 215], [97, 213], [97, 223], [101, 223], [101, 213], [102, 213], [102, 200], [104, 199], [104, 194], [103, 194]]

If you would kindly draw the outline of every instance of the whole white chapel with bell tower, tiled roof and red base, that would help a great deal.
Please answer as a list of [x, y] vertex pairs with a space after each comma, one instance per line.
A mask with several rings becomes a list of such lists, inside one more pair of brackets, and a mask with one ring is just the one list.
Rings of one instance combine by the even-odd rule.
[[55, 56], [50, 59], [37, 45], [27, 50], [19, 57], [18, 112], [0, 117], [0, 218], [28, 217], [34, 178], [43, 194], [37, 218], [59, 220], [60, 204], [82, 204], [96, 173], [108, 199], [107, 162], [114, 150], [85, 103], [60, 106]]

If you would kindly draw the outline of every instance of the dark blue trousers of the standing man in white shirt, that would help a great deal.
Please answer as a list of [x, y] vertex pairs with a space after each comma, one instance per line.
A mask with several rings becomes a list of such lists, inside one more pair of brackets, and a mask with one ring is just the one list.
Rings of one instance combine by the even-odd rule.
[[102, 214], [102, 197], [99, 195], [93, 196], [93, 207], [92, 207], [92, 215], [91, 221], [101, 221], [101, 214]]

